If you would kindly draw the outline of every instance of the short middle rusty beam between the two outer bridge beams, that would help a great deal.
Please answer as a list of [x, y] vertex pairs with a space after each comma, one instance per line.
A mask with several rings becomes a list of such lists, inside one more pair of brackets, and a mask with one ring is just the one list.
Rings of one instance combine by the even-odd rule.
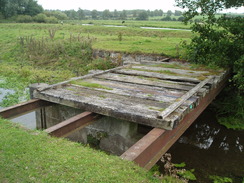
[[66, 137], [69, 134], [80, 130], [91, 124], [94, 120], [99, 119], [101, 115], [92, 112], [83, 112], [57, 125], [54, 125], [45, 131], [51, 136]]

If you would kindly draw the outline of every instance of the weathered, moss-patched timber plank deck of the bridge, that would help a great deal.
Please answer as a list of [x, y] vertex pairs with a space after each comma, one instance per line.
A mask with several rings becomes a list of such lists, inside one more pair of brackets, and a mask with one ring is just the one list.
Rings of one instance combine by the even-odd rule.
[[147, 126], [173, 129], [227, 75], [179, 62], [148, 62], [89, 74], [34, 97]]

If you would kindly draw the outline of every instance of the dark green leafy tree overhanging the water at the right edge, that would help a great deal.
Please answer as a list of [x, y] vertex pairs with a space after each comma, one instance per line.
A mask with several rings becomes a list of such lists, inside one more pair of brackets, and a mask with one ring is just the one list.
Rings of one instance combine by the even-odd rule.
[[[220, 106], [219, 112], [224, 114], [221, 117], [222, 124], [229, 128], [236, 128], [236, 123], [244, 122], [244, 17], [228, 17], [222, 15], [216, 18], [215, 14], [218, 10], [230, 7], [240, 7], [242, 1], [211, 1], [211, 0], [177, 0], [178, 6], [187, 7], [189, 10], [185, 13], [185, 21], [191, 20], [197, 15], [202, 15], [204, 18], [201, 23], [195, 23], [192, 26], [195, 37], [191, 43], [185, 45], [187, 47], [188, 60], [200, 64], [220, 66], [230, 69], [232, 80], [235, 83], [235, 89], [231, 91], [225, 99], [224, 107], [227, 109], [223, 112], [223, 105]], [[201, 11], [199, 11], [199, 9]], [[232, 109], [234, 103], [234, 110]], [[234, 125], [232, 125], [232, 122]], [[238, 127], [239, 128], [239, 127]]]

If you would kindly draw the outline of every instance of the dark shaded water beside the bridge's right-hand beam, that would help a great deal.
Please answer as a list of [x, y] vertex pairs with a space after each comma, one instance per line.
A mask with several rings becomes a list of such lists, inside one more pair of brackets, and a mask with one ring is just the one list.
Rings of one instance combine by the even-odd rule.
[[210, 175], [224, 176], [233, 182], [244, 181], [244, 133], [228, 130], [217, 123], [209, 108], [169, 150], [173, 163], [186, 163], [195, 169], [199, 183], [213, 182]]

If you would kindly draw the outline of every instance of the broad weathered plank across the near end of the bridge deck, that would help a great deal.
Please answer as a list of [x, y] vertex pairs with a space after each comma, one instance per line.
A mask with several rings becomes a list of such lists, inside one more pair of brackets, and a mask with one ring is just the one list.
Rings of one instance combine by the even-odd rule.
[[[42, 92], [34, 93], [34, 96], [40, 99], [45, 99], [53, 103], [58, 103], [70, 107], [83, 109], [99, 113], [106, 116], [128, 120], [131, 122], [140, 123], [147, 126], [155, 126], [158, 128], [172, 129], [174, 124], [164, 122], [157, 119], [157, 113], [160, 109], [166, 108], [169, 104], [159, 103], [150, 100], [131, 99], [124, 96], [99, 97], [89, 90], [79, 92], [60, 89], [50, 89]], [[90, 95], [88, 95], [88, 93]], [[132, 101], [131, 101], [132, 100]]]

